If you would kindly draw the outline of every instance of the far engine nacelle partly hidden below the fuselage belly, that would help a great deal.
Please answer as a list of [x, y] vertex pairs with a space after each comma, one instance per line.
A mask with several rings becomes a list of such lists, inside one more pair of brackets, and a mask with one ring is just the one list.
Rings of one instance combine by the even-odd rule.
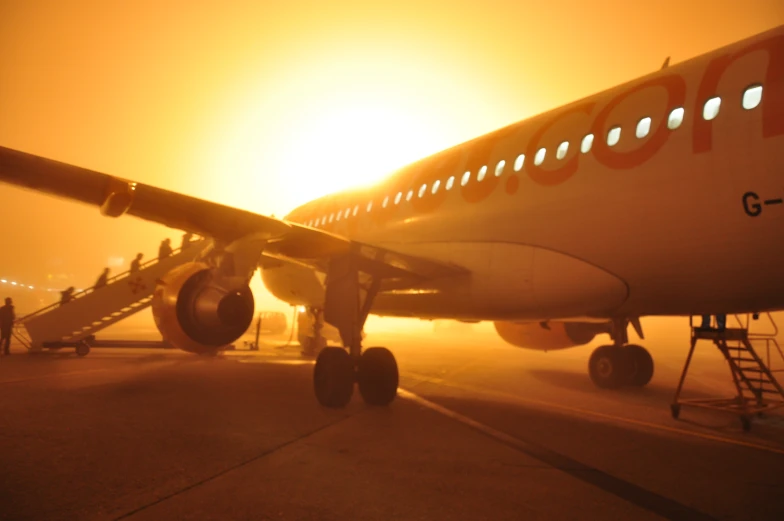
[[601, 333], [610, 332], [609, 323], [590, 322], [495, 322], [495, 330], [513, 346], [549, 351], [587, 344]]

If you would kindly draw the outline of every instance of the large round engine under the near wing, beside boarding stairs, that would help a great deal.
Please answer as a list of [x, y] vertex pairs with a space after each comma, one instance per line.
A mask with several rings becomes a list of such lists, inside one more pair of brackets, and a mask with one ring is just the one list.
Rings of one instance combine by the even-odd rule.
[[155, 287], [152, 313], [163, 339], [191, 353], [210, 353], [237, 340], [253, 321], [253, 294], [230, 289], [215, 270], [189, 262]]

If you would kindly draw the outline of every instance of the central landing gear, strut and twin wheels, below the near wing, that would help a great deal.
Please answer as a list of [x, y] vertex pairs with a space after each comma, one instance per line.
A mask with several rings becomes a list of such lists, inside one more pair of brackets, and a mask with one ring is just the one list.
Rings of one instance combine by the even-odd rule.
[[324, 319], [338, 328], [346, 349], [324, 348], [316, 360], [313, 388], [325, 407], [345, 407], [355, 382], [368, 405], [389, 405], [397, 395], [399, 375], [394, 355], [385, 347], [362, 350], [362, 327], [381, 281], [360, 271], [359, 260], [358, 253], [352, 251], [332, 259], [327, 271]]

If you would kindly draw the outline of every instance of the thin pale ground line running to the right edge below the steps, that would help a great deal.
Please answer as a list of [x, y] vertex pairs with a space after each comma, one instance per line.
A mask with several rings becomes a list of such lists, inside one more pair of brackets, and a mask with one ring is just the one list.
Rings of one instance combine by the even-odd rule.
[[627, 424], [630, 424], [630, 425], [636, 425], [638, 427], [646, 427], [646, 428], [649, 428], [649, 429], [655, 429], [655, 430], [660, 430], [660, 431], [665, 431], [665, 432], [671, 432], [671, 433], [674, 433], [674, 434], [681, 434], [681, 435], [684, 435], [684, 436], [691, 436], [691, 437], [694, 437], [694, 438], [702, 438], [702, 439], [705, 439], [705, 440], [716, 441], [716, 442], [719, 442], [719, 443], [727, 443], [727, 444], [730, 444], [730, 445], [737, 445], [739, 447], [746, 447], [746, 448], [750, 448], [750, 449], [757, 449], [757, 450], [762, 450], [762, 451], [766, 451], [766, 452], [771, 452], [773, 454], [784, 455], [784, 449], [771, 447], [769, 445], [762, 445], [762, 444], [759, 444], [759, 443], [752, 443], [752, 442], [749, 442], [749, 441], [736, 440], [736, 439], [733, 439], [733, 438], [727, 438], [727, 437], [718, 436], [718, 435], [715, 435], [715, 434], [707, 434], [707, 433], [702, 433], [702, 432], [689, 431], [689, 430], [681, 429], [681, 428], [678, 428], [678, 427], [669, 427], [667, 425], [661, 425], [661, 424], [658, 424], [658, 423], [650, 423], [650, 422], [646, 422], [646, 421], [642, 421], [642, 420], [634, 420], [634, 419], [631, 419], [631, 418], [624, 418], [623, 416], [615, 416], [615, 415], [607, 414], [607, 413], [603, 413], [603, 412], [591, 411], [589, 409], [581, 409], [579, 407], [571, 407], [569, 405], [563, 405], [563, 404], [555, 403], [555, 402], [547, 402], [547, 401], [544, 401], [544, 400], [537, 400], [537, 399], [534, 399], [534, 398], [523, 398], [523, 397], [520, 397], [520, 396], [517, 396], [517, 395], [514, 395], [514, 394], [504, 393], [504, 392], [501, 392], [501, 391], [494, 391], [494, 390], [485, 389], [485, 388], [482, 388], [482, 387], [454, 384], [454, 383], [446, 382], [445, 380], [443, 380], [441, 378], [430, 378], [430, 377], [427, 377], [427, 376], [424, 376], [424, 375], [422, 375], [422, 376], [417, 375], [415, 378], [418, 378], [418, 379], [420, 379], [422, 381], [425, 381], [425, 382], [430, 382], [430, 383], [433, 383], [433, 384], [436, 384], [436, 385], [444, 385], [446, 387], [452, 387], [454, 389], [459, 389], [459, 390], [462, 390], [462, 391], [473, 392], [473, 393], [490, 394], [490, 395], [503, 397], [503, 398], [510, 399], [510, 400], [513, 400], [513, 401], [516, 401], [516, 402], [520, 402], [520, 403], [527, 403], [527, 404], [546, 406], [546, 407], [553, 408], [553, 409], [561, 409], [563, 411], [568, 411], [568, 412], [572, 412], [572, 413], [578, 413], [578, 414], [584, 414], [584, 415], [587, 415], [587, 416], [594, 416], [594, 417], [597, 417], [597, 418], [603, 418], [605, 420], [612, 420], [612, 421], [617, 421], [617, 422], [621, 422], [621, 423], [627, 423]]

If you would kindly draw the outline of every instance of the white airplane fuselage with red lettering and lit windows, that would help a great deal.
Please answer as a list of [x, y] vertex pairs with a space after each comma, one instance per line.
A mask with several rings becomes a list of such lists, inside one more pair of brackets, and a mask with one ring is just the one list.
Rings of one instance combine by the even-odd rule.
[[[679, 109], [682, 121], [668, 125]], [[425, 158], [372, 188], [312, 201], [287, 220], [470, 272], [428, 291], [382, 293], [375, 314], [684, 315], [784, 308], [782, 198], [778, 28]], [[306, 268], [263, 277], [291, 303], [322, 298]]]

